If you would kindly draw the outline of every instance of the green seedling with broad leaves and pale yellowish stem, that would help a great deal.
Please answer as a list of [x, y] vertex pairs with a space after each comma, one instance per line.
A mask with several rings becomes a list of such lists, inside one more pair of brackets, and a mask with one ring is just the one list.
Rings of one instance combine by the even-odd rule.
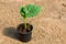
[[41, 11], [40, 6], [28, 4], [20, 8], [20, 14], [24, 19], [24, 29], [26, 29], [26, 19], [35, 16]]

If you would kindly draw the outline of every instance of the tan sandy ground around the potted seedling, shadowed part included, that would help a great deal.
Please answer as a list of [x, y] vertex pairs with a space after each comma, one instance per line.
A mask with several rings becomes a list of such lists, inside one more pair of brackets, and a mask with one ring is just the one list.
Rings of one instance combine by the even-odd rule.
[[[32, 40], [23, 43], [14, 32], [23, 22], [19, 8], [29, 3], [42, 11], [28, 20], [34, 29]], [[66, 44], [66, 0], [0, 0], [0, 44]]]

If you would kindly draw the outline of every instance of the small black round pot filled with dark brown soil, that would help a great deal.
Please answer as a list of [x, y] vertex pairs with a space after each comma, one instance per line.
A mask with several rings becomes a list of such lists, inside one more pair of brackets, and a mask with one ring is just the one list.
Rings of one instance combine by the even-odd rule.
[[24, 23], [19, 24], [18, 26], [19, 40], [22, 42], [29, 42], [32, 38], [32, 30], [33, 26], [29, 23], [26, 23], [26, 30], [24, 29]]

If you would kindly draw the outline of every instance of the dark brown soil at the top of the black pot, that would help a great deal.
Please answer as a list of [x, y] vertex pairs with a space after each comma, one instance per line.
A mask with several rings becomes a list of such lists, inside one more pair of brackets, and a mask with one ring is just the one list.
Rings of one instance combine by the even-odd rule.
[[20, 24], [18, 26], [19, 33], [26, 34], [33, 30], [33, 26], [29, 23], [26, 23], [26, 29], [24, 28], [24, 23]]

